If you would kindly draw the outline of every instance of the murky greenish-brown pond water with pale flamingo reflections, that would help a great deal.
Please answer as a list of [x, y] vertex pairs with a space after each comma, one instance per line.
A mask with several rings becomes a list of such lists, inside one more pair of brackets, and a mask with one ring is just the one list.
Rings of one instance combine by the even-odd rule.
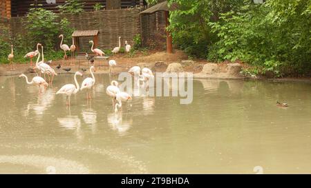
[[190, 105], [139, 97], [114, 114], [109, 76], [96, 79], [91, 103], [79, 92], [68, 109], [55, 92], [73, 75], [42, 95], [1, 77], [0, 173], [311, 172], [311, 83], [194, 81]]

